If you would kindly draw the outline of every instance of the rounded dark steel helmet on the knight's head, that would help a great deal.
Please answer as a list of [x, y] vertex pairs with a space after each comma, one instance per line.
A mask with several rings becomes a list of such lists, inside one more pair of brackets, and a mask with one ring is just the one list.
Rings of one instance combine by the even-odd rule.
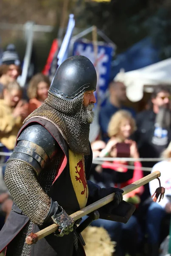
[[56, 70], [49, 92], [73, 99], [87, 90], [95, 90], [97, 74], [93, 63], [85, 56], [72, 56]]

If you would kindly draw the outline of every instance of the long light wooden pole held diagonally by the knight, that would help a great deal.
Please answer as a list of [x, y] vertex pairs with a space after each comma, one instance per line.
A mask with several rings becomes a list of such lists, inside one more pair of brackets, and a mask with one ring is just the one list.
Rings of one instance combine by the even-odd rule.
[[[153, 172], [143, 178], [141, 178], [140, 180], [136, 180], [135, 182], [133, 182], [132, 184], [129, 184], [128, 186], [122, 188], [123, 189], [123, 195], [126, 195], [127, 193], [139, 188], [140, 186], [145, 185], [146, 183], [149, 183], [151, 180], [156, 179], [157, 177], [160, 177], [160, 172], [156, 171]], [[93, 204], [90, 204], [87, 207], [84, 207], [83, 209], [79, 210], [78, 212], [74, 212], [73, 214], [70, 215], [71, 218], [74, 219], [74, 221], [78, 220], [79, 218], [89, 214], [90, 212], [95, 211], [96, 209], [103, 207], [106, 204], [109, 204], [110, 202], [113, 201], [115, 193], [112, 193], [110, 195], [107, 195], [104, 198], [101, 198], [100, 200], [96, 201]], [[39, 232], [35, 233], [35, 234], [31, 234], [28, 237], [26, 237], [25, 241], [27, 244], [34, 244], [36, 243], [38, 240], [44, 238], [45, 236], [50, 235], [51, 233], [55, 232], [58, 229], [58, 225], [57, 224], [52, 224], [49, 227], [46, 227], [43, 230], [40, 230]]]

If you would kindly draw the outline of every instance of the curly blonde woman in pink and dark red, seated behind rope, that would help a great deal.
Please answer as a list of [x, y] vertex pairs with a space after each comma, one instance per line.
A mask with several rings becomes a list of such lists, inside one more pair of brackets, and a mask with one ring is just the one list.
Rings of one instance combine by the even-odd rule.
[[[121, 110], [115, 113], [109, 122], [108, 134], [110, 140], [106, 147], [104, 147], [105, 145], [103, 141], [93, 142], [93, 157], [117, 157], [117, 154], [120, 154], [120, 157], [122, 157], [123, 154], [123, 156], [126, 157], [131, 156], [138, 158], [139, 154], [136, 143], [132, 140], [128, 140], [133, 131], [135, 131], [135, 128], [135, 120], [128, 111]], [[121, 142], [126, 144], [126, 147], [124, 148], [124, 144], [122, 144], [122, 151], [117, 152], [117, 149], [119, 149], [117, 145]], [[127, 145], [129, 147], [127, 147]], [[128, 148], [130, 149], [127, 150]], [[119, 164], [122, 164], [123, 167], [120, 167]], [[124, 167], [124, 165], [127, 164], [128, 163], [126, 162], [123, 163], [116, 161], [112, 164], [105, 162], [102, 165], [102, 168], [99, 165], [93, 164], [90, 179], [92, 179], [95, 183], [98, 183], [98, 185], [101, 187], [114, 186], [114, 184], [115, 186], [118, 185], [119, 187], [123, 187], [143, 177], [142, 171], [138, 169], [138, 167], [141, 167], [139, 162], [135, 162], [134, 172], [128, 170], [127, 167]], [[143, 188], [141, 187], [133, 192], [130, 192], [129, 195], [127, 195], [127, 198], [125, 197], [124, 199], [134, 197], [142, 192]], [[139, 203], [139, 200], [137, 203]], [[135, 256], [137, 246], [141, 240], [140, 227], [135, 216], [131, 216], [126, 224], [98, 219], [93, 221], [92, 226], [102, 226], [108, 231], [112, 241], [117, 242], [116, 254], [118, 256], [124, 256], [126, 252], [129, 252], [130, 255]]]

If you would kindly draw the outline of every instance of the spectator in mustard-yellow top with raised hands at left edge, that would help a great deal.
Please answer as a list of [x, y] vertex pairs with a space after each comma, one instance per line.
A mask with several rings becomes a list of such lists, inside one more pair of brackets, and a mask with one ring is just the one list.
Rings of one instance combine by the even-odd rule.
[[[22, 102], [20, 85], [13, 81], [3, 90], [4, 99], [0, 99], [0, 151], [12, 152], [17, 133], [27, 116], [27, 108]], [[4, 158], [5, 163], [8, 157]], [[5, 213], [6, 218], [11, 210], [12, 198], [3, 181], [5, 166], [0, 168], [0, 215]], [[1, 221], [2, 223], [2, 218]]]

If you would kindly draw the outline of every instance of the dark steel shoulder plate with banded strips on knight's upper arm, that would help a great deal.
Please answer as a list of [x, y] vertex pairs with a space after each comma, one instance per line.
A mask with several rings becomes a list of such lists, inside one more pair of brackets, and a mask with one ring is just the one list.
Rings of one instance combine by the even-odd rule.
[[28, 163], [39, 174], [58, 150], [59, 145], [50, 132], [42, 125], [34, 124], [22, 131], [8, 161], [20, 160]]

